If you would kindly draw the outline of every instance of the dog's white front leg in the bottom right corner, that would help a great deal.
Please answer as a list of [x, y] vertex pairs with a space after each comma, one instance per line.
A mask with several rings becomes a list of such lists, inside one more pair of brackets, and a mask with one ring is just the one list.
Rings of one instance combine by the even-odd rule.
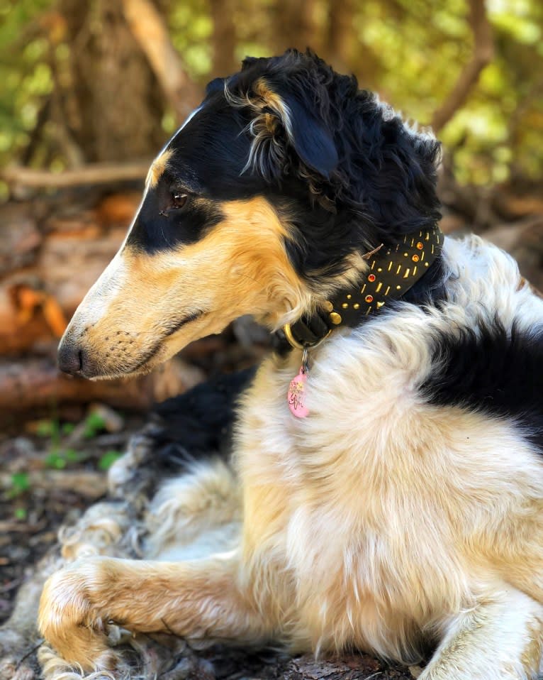
[[454, 617], [419, 680], [534, 680], [543, 649], [543, 605], [503, 587]]

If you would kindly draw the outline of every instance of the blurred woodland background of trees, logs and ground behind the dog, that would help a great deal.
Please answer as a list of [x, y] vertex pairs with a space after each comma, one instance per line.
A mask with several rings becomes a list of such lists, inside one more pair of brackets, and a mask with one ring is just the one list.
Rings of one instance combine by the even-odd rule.
[[55, 367], [206, 82], [309, 45], [432, 126], [444, 230], [484, 234], [542, 286], [542, 32], [540, 0], [0, 0], [0, 618], [17, 564], [104, 492], [152, 402], [267, 351], [241, 319], [138, 380]]

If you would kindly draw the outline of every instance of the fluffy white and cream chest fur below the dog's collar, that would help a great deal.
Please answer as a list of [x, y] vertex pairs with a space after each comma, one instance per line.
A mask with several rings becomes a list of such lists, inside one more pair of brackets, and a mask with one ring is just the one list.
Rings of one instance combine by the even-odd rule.
[[276, 607], [291, 607], [317, 647], [409, 657], [420, 628], [490, 587], [500, 566], [489, 527], [498, 516], [514, 530], [542, 478], [512, 423], [418, 393], [440, 324], [406, 306], [332, 336], [310, 356], [305, 419], [286, 401], [301, 352], [265, 361], [243, 400], [247, 578], [285, 598]]

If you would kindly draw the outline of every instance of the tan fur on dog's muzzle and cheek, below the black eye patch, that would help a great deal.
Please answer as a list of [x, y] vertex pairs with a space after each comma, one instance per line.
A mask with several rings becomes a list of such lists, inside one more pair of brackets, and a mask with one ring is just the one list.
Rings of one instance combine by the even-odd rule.
[[276, 327], [308, 305], [286, 256], [286, 228], [269, 202], [257, 197], [220, 209], [224, 219], [196, 243], [152, 254], [121, 248], [62, 339], [85, 354], [85, 377], [150, 371], [242, 314]]

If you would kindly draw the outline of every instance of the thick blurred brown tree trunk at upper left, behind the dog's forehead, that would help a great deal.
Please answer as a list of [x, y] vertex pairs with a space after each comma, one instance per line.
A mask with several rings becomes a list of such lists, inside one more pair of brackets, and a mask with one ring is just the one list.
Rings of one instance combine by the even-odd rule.
[[152, 155], [164, 142], [165, 97], [122, 0], [60, 0], [69, 59], [60, 64], [60, 118], [82, 160]]

